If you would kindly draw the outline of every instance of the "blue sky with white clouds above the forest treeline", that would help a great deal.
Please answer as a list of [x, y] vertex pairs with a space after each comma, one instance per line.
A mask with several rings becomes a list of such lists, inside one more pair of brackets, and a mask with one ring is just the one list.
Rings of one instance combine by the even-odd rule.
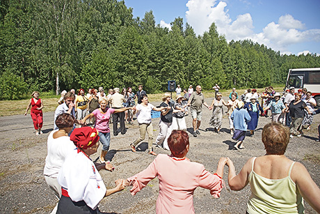
[[282, 54], [320, 54], [319, 0], [125, 0], [134, 17], [152, 10], [156, 24], [176, 17], [202, 35], [212, 22], [227, 41], [251, 39]]

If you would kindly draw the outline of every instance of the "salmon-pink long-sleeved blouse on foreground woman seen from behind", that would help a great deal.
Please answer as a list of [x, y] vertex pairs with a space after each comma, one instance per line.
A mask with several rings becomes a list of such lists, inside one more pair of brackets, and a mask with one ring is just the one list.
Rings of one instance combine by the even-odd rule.
[[188, 158], [177, 159], [170, 155], [159, 154], [157, 158], [135, 176], [127, 180], [133, 188], [132, 195], [144, 188], [149, 181], [158, 176], [159, 197], [157, 213], [195, 213], [193, 192], [198, 186], [210, 190], [213, 197], [220, 197], [223, 179], [211, 174], [205, 167]]

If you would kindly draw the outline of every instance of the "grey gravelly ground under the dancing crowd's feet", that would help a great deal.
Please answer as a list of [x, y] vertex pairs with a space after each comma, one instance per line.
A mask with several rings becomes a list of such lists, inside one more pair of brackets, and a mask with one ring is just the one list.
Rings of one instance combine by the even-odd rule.
[[[212, 98], [207, 98], [206, 101], [211, 104]], [[45, 133], [41, 136], [35, 136], [30, 116], [0, 117], [0, 213], [50, 213], [56, 205], [58, 200], [42, 175], [47, 155], [47, 137], [53, 128], [53, 117], [53, 112], [45, 113], [43, 128]], [[261, 133], [264, 125], [271, 119], [260, 118], [255, 135], [246, 137], [244, 144], [246, 148], [235, 151], [233, 150], [235, 142], [231, 139], [227, 116], [223, 116], [221, 135], [210, 129], [210, 118], [211, 112], [205, 108], [200, 126], [201, 135], [195, 138], [191, 135], [191, 116], [186, 117], [191, 143], [187, 157], [191, 161], [202, 163], [207, 170], [214, 173], [219, 158], [230, 157], [239, 172], [250, 157], [264, 155]], [[153, 119], [152, 123], [155, 141], [159, 131], [159, 119]], [[318, 186], [320, 186], [320, 145], [314, 140], [317, 137], [319, 123], [320, 116], [314, 116], [311, 130], [305, 130], [303, 137], [291, 139], [286, 152], [288, 158], [305, 165]], [[127, 124], [126, 127], [125, 135], [116, 137], [111, 135], [108, 158], [111, 159], [115, 171], [100, 171], [107, 188], [112, 188], [116, 179], [127, 178], [145, 169], [154, 160], [152, 155], [147, 154], [147, 140], [138, 147], [140, 151], [131, 152], [129, 144], [138, 137], [138, 124], [135, 121], [134, 125]], [[99, 146], [99, 151], [101, 148], [102, 146]], [[162, 148], [154, 148], [154, 151], [169, 154], [169, 151]], [[98, 154], [91, 156], [95, 161], [97, 157]], [[195, 190], [193, 201], [195, 213], [246, 213], [250, 187], [247, 186], [239, 192], [231, 191], [227, 185], [227, 167], [224, 180], [226, 188], [221, 192], [219, 199], [212, 198], [209, 190], [202, 188]], [[134, 197], [129, 193], [129, 188], [126, 188], [122, 192], [104, 198], [99, 204], [99, 209], [104, 213], [155, 213], [158, 192], [158, 180], [155, 178]], [[316, 212], [305, 202], [305, 213]]]

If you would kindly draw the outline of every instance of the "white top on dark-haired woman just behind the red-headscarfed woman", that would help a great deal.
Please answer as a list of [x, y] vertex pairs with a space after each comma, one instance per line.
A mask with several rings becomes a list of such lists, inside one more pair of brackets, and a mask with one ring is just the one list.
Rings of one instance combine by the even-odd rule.
[[53, 135], [58, 130], [53, 130], [47, 141], [47, 158], [45, 158], [45, 169], [43, 174], [51, 178], [56, 178], [65, 158], [77, 153], [77, 147], [70, 140], [70, 137], [63, 136], [54, 139]]

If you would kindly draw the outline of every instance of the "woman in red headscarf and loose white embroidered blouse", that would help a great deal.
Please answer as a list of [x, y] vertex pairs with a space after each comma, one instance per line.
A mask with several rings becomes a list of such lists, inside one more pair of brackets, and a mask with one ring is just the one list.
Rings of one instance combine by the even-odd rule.
[[125, 187], [122, 182], [118, 182], [115, 188], [106, 190], [98, 171], [112, 171], [112, 166], [105, 162], [95, 165], [90, 159], [90, 155], [96, 153], [99, 147], [99, 135], [95, 128], [76, 128], [70, 139], [77, 146], [78, 152], [67, 157], [58, 174], [62, 196], [57, 213], [99, 213], [99, 201]]

